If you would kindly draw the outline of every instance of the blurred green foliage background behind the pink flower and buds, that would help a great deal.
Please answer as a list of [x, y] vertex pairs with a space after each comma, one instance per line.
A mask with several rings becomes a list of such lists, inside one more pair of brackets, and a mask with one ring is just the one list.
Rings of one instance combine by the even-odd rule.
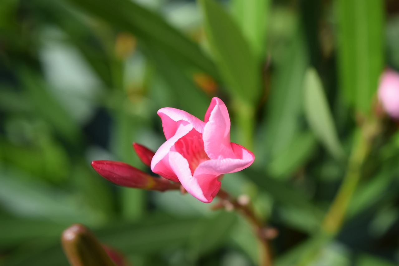
[[[387, 66], [399, 70], [396, 0], [2, 0], [0, 264], [67, 265], [59, 237], [81, 222], [135, 266], [256, 265], [235, 213], [90, 167], [149, 171], [131, 143], [162, 144], [156, 111], [202, 118], [213, 96], [256, 156], [222, 187], [278, 230], [276, 265], [398, 264], [399, 133], [374, 115]], [[364, 124], [377, 134], [352, 157]], [[356, 156], [357, 188], [326, 238]]]

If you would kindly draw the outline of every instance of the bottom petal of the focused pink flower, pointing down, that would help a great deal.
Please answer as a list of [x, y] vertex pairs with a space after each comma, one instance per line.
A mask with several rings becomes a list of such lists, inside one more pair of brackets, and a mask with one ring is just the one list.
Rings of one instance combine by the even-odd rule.
[[188, 193], [202, 202], [209, 203], [212, 201], [221, 185], [217, 181], [218, 176], [203, 174], [193, 177], [188, 161], [176, 151], [169, 153], [169, 162], [180, 183]]

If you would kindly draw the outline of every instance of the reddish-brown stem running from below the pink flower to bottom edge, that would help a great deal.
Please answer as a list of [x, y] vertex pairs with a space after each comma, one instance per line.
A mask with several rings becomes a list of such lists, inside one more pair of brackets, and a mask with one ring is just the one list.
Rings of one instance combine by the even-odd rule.
[[240, 204], [236, 199], [231, 197], [227, 191], [220, 189], [217, 196], [222, 199], [226, 200], [230, 206], [233, 206], [236, 210], [239, 210], [245, 218], [251, 223], [253, 226], [253, 230], [255, 231], [255, 235], [259, 240], [259, 265], [260, 266], [271, 266], [272, 265], [272, 256], [271, 250], [269, 246], [269, 242], [267, 240], [267, 236], [265, 234], [265, 226], [263, 222], [257, 218], [253, 209], [249, 204]]

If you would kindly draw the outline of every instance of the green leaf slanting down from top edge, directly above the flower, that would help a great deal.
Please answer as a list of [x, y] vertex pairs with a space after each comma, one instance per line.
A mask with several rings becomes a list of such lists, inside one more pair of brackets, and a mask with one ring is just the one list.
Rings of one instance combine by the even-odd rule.
[[261, 68], [233, 18], [214, 0], [199, 0], [205, 33], [223, 81], [234, 98], [257, 103]]

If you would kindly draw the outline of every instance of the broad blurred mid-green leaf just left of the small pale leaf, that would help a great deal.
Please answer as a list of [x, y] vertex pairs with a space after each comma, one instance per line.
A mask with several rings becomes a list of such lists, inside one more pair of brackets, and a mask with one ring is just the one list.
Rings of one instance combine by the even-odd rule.
[[288, 149], [300, 130], [302, 83], [308, 57], [302, 30], [289, 37], [273, 73], [267, 99], [264, 149], [272, 160]]

